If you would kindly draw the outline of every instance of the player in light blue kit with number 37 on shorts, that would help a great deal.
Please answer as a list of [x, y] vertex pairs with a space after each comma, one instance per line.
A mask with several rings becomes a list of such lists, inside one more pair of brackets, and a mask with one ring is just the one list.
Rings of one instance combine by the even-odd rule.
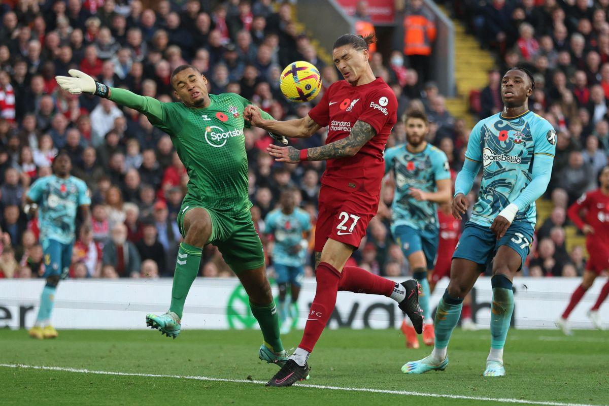
[[528, 110], [535, 83], [529, 71], [512, 68], [501, 80], [504, 110], [471, 131], [463, 169], [457, 175], [452, 214], [468, 209], [466, 195], [482, 167], [482, 183], [471, 219], [452, 256], [451, 281], [435, 316], [435, 346], [428, 357], [408, 362], [404, 373], [422, 374], [448, 365], [446, 348], [461, 314], [463, 298], [481, 270], [493, 261], [491, 349], [484, 376], [504, 376], [503, 348], [514, 310], [512, 279], [529, 254], [535, 229], [535, 200], [552, 172], [556, 133]]

